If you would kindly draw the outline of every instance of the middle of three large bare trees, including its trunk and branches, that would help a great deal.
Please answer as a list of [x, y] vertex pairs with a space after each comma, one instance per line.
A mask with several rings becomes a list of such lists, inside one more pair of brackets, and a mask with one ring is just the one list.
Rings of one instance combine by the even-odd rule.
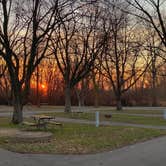
[[62, 20], [52, 39], [53, 53], [65, 81], [65, 112], [71, 111], [71, 90], [92, 70], [103, 47], [97, 29], [99, 12], [89, 5], [83, 7], [84, 11], [76, 10]]

